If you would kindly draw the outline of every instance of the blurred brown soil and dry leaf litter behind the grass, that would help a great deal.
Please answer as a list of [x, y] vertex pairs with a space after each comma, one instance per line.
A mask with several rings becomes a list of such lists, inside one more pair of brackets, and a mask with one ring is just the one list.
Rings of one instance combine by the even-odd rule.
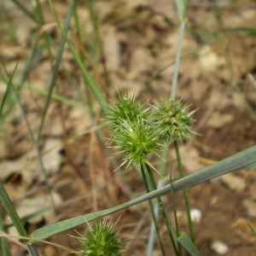
[[[48, 90], [52, 75], [42, 33], [49, 33], [55, 47], [61, 37], [47, 1], [41, 2], [42, 27], [27, 18], [11, 1], [0, 3], [0, 55], [9, 73], [19, 61], [15, 81], [26, 84], [19, 90], [20, 101], [34, 132], [38, 131], [45, 103], [42, 91]], [[63, 20], [68, 1], [56, 0], [54, 4]], [[141, 102], [150, 103], [170, 95], [178, 32], [173, 1], [96, 1], [102, 51], [98, 50], [86, 4], [78, 1], [78, 6], [81, 41], [74, 31], [74, 21], [69, 36], [110, 101], [115, 97], [116, 88], [135, 93]], [[194, 130], [201, 136], [181, 145], [187, 173], [256, 143], [255, 1], [189, 1], [188, 12], [177, 97], [191, 104], [191, 108], [198, 108]], [[35, 38], [38, 38], [36, 44]], [[29, 63], [30, 70], [26, 78], [22, 78], [26, 58], [32, 50], [38, 58]], [[52, 52], [55, 53], [54, 47]], [[52, 57], [54, 59], [55, 54]], [[1, 73], [4, 77], [3, 65]], [[0, 83], [3, 98], [6, 83], [3, 79]], [[113, 172], [112, 160], [96, 133], [97, 125], [102, 124], [100, 108], [95, 98], [84, 90], [84, 81], [68, 47], [63, 55], [55, 95], [77, 102], [75, 105], [56, 98], [50, 102], [40, 141], [57, 212], [47, 211], [30, 218], [26, 221], [29, 232], [44, 224], [114, 207], [145, 193], [133, 169]], [[92, 104], [93, 118], [80, 102]], [[20, 108], [13, 103], [13, 98], [9, 97], [10, 113], [1, 119], [0, 177], [20, 216], [26, 217], [51, 204], [26, 122]], [[107, 131], [104, 126], [104, 136], [108, 136]], [[176, 172], [172, 148], [169, 156], [173, 172]], [[154, 165], [158, 166], [159, 160], [154, 160]], [[256, 228], [255, 170], [232, 173], [197, 185], [189, 189], [189, 198], [191, 207], [202, 214], [195, 223], [196, 244], [202, 255], [217, 255], [212, 248], [214, 241], [221, 241], [229, 248], [224, 255], [256, 255], [256, 239], [247, 226], [250, 223]], [[171, 198], [165, 196], [163, 199], [172, 214]], [[177, 193], [176, 202], [182, 230], [187, 231], [181, 193]], [[9, 223], [3, 207], [1, 212], [5, 223]], [[125, 255], [145, 255], [150, 226], [148, 203], [118, 212], [109, 219], [118, 218], [120, 214], [122, 229], [119, 235], [123, 240], [131, 240]], [[76, 230], [84, 232], [87, 226], [84, 224]], [[9, 233], [15, 234], [15, 230], [9, 229]], [[164, 228], [161, 233], [167, 237]], [[78, 241], [67, 234], [75, 233], [70, 230], [50, 241], [75, 248]], [[167, 238], [165, 244], [170, 248], [168, 255], [172, 255]], [[20, 243], [10, 241], [9, 245], [11, 255], [26, 255]], [[52, 246], [38, 244], [38, 248], [41, 255], [70, 255]], [[158, 245], [154, 255], [160, 255]]]

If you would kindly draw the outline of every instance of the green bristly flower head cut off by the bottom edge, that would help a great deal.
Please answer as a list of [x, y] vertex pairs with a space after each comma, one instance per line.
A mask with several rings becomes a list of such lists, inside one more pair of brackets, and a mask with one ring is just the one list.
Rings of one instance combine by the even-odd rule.
[[83, 236], [76, 238], [81, 242], [78, 253], [82, 256], [120, 256], [125, 242], [119, 241], [116, 235], [119, 219], [111, 224], [107, 219], [96, 220], [95, 224], [89, 225], [89, 231]]

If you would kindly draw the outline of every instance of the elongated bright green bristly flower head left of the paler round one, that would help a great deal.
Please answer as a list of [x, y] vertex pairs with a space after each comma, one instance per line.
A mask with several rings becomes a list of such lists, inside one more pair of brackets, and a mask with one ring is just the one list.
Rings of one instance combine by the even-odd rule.
[[137, 170], [144, 165], [153, 167], [148, 157], [156, 154], [159, 144], [148, 120], [151, 109], [143, 107], [136, 102], [134, 96], [119, 96], [119, 101], [108, 109], [107, 119], [113, 128], [110, 140], [115, 143], [113, 148], [119, 149], [117, 154], [124, 155], [119, 167], [134, 165]]

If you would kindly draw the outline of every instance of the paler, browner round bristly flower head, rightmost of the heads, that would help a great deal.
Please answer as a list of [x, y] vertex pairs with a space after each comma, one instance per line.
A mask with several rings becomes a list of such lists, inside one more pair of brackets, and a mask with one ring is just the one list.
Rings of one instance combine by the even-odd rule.
[[182, 100], [166, 99], [155, 103], [153, 123], [158, 127], [160, 137], [167, 143], [183, 141], [190, 138], [192, 133], [190, 126], [195, 122], [189, 113], [189, 106], [183, 106]]

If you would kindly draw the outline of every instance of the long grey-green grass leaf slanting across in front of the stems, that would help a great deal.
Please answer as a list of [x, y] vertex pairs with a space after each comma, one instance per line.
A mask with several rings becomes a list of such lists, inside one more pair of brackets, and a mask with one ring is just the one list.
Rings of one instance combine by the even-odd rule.
[[[212, 166], [207, 166], [201, 171], [189, 174], [188, 176], [177, 180], [176, 182], [172, 183], [172, 190], [177, 191], [177, 190], [189, 188], [189, 187], [195, 186], [196, 184], [204, 183], [212, 179], [213, 177], [224, 175], [228, 172], [234, 172], [237, 170], [249, 169], [253, 167], [256, 167], [256, 145], [251, 148], [247, 148], [237, 154], [234, 154], [224, 160], [221, 160]], [[113, 212], [118, 212], [122, 209], [131, 207], [143, 201], [148, 201], [149, 199], [153, 199], [161, 195], [166, 195], [170, 193], [170, 189], [171, 189], [171, 184], [168, 184], [161, 189], [156, 189], [148, 193], [147, 195], [142, 195], [140, 197], [137, 197], [134, 200], [131, 200], [131, 201], [125, 202], [122, 205], [119, 205], [118, 207], [109, 208], [107, 210], [94, 212], [94, 213], [86, 214], [86, 215], [75, 217], [75, 218], [69, 218], [59, 223], [51, 224], [42, 229], [35, 230], [32, 233], [32, 238], [45, 239], [49, 236], [54, 236], [55, 234], [58, 234], [62, 231], [72, 229], [75, 226], [78, 226], [79, 224], [84, 224], [93, 219], [106, 216]]]

